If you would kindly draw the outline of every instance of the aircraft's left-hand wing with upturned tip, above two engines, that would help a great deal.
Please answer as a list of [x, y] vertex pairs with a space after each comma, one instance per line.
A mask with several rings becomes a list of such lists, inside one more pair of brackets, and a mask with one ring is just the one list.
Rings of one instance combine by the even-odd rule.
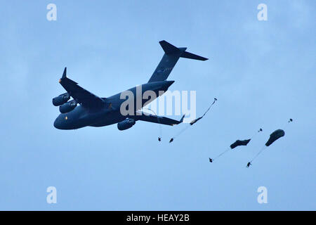
[[96, 108], [105, 104], [105, 101], [92, 94], [90, 91], [82, 88], [74, 82], [72, 79], [69, 79], [67, 76], [67, 68], [65, 68], [62, 78], [59, 80], [62, 87], [74, 98], [77, 103], [84, 105], [87, 108]]

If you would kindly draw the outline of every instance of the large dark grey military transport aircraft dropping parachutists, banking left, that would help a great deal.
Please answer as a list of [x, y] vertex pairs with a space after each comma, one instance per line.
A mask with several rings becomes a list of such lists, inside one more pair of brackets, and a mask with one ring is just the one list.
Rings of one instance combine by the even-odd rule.
[[[180, 57], [207, 60], [207, 58], [185, 51], [187, 48], [177, 48], [167, 41], [159, 41], [159, 44], [164, 49], [164, 56], [147, 84], [141, 85], [141, 96], [143, 96], [145, 91], [154, 91], [156, 94], [155, 98], [157, 98], [157, 96], [161, 95], [159, 91], [166, 91], [174, 82], [166, 81], [166, 79]], [[151, 101], [154, 101], [155, 98], [152, 97], [149, 100], [141, 98], [141, 104], [133, 104], [135, 105], [132, 110], [133, 113], [127, 115], [121, 113], [121, 104], [127, 99], [121, 99], [121, 93], [124, 91], [108, 98], [100, 98], [90, 91], [83, 89], [76, 82], [67, 78], [66, 75], [67, 68], [65, 68], [62, 74], [62, 78], [59, 79], [59, 83], [67, 92], [53, 98], [53, 105], [59, 105], [60, 110], [60, 115], [54, 122], [54, 127], [57, 129], [79, 129], [87, 126], [103, 127], [117, 123], [117, 128], [124, 130], [133, 127], [138, 120], [166, 125], [183, 122], [184, 116], [178, 121], [138, 111]], [[135, 86], [127, 90], [133, 93], [133, 96], [135, 96], [133, 101], [135, 102], [137, 98], [136, 89], [138, 87]], [[73, 99], [70, 100], [70, 97]]]

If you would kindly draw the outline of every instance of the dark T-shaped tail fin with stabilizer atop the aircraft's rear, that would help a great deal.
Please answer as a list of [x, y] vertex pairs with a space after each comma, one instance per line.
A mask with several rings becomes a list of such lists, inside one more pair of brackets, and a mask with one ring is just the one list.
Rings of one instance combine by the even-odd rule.
[[150, 77], [148, 83], [166, 80], [179, 58], [190, 58], [202, 61], [208, 60], [208, 58], [197, 56], [185, 51], [187, 48], [177, 48], [167, 41], [159, 41], [159, 44], [162, 46], [162, 49], [164, 49], [164, 56], [162, 57], [162, 60], [158, 64], [156, 70], [154, 70], [154, 73], [152, 74], [152, 77]]

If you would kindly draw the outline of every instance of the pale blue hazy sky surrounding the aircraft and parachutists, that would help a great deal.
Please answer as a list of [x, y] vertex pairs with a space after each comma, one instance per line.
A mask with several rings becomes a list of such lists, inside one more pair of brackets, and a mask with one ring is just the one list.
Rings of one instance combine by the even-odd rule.
[[[57, 21], [46, 6], [57, 5]], [[268, 5], [268, 21], [257, 6]], [[315, 210], [315, 1], [1, 1], [1, 210]], [[158, 41], [180, 59], [170, 90], [197, 91], [183, 126], [61, 131], [51, 98], [65, 66], [98, 96], [147, 82]], [[275, 129], [285, 136], [245, 165]], [[256, 136], [213, 164], [236, 139]], [[46, 203], [55, 186], [58, 203]], [[268, 188], [268, 204], [257, 188]]]

